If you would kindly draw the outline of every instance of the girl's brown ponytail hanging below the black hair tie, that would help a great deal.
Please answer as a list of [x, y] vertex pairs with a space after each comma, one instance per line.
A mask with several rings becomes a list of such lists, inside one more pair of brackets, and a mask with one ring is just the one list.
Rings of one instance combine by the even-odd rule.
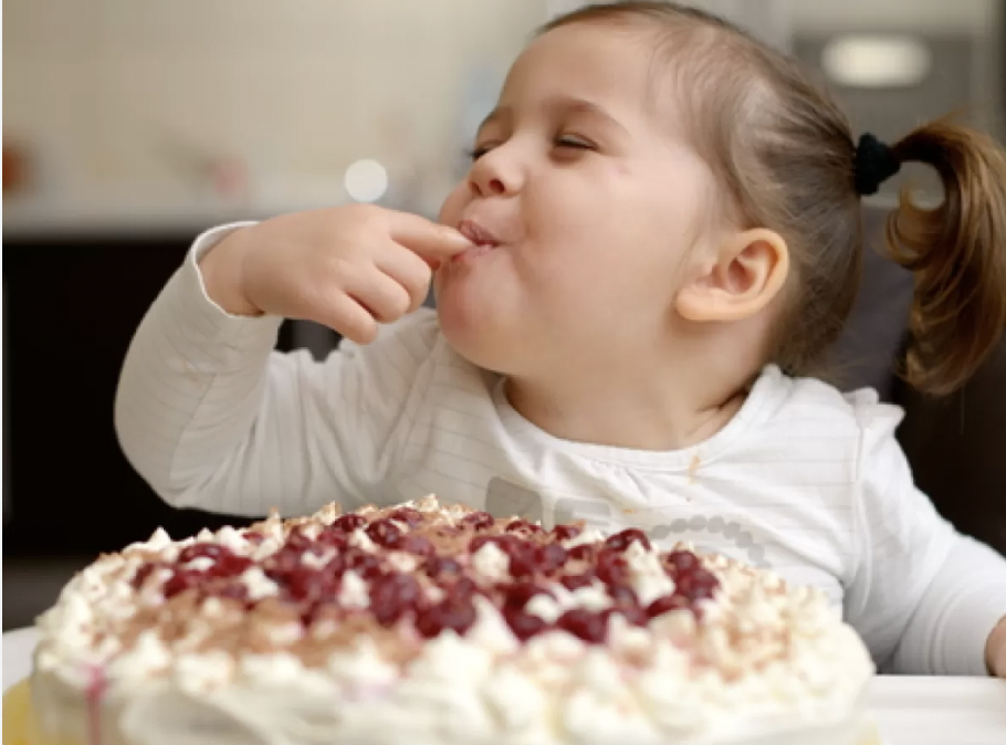
[[887, 225], [891, 256], [915, 276], [904, 375], [933, 395], [962, 386], [1006, 330], [1006, 153], [987, 134], [937, 120], [891, 146], [932, 166], [943, 201], [901, 191]]

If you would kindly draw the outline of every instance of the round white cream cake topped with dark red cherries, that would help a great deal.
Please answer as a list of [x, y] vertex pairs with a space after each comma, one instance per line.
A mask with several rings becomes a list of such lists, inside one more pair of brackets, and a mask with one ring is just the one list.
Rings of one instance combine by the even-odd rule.
[[158, 531], [38, 630], [11, 745], [876, 742], [870, 657], [822, 594], [432, 496]]

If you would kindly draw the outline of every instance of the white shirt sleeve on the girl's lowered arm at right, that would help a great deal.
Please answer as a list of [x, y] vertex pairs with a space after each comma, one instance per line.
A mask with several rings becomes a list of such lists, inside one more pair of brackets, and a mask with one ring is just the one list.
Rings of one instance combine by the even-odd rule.
[[915, 486], [894, 438], [900, 410], [860, 415], [860, 564], [847, 620], [883, 672], [986, 675], [985, 646], [1006, 616], [1006, 559], [957, 533]]

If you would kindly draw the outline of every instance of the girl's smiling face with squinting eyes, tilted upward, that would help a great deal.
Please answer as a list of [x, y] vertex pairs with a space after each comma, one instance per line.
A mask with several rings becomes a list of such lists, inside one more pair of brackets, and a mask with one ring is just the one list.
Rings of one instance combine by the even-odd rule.
[[715, 191], [651, 75], [638, 33], [595, 24], [549, 31], [510, 71], [440, 213], [484, 243], [434, 281], [472, 363], [515, 378], [646, 364], [673, 334]]

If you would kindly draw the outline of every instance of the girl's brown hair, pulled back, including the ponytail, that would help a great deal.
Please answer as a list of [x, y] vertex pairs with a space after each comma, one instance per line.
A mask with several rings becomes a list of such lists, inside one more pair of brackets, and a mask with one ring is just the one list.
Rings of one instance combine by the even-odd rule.
[[[732, 197], [733, 217], [788, 243], [793, 267], [769, 359], [818, 372], [859, 286], [862, 210], [856, 143], [832, 98], [798, 63], [738, 28], [673, 2], [587, 6], [549, 22], [619, 23], [651, 34], [654, 81], [673, 78], [684, 134]], [[654, 96], [656, 97], [656, 96]], [[891, 146], [935, 168], [943, 201], [903, 190], [890, 255], [915, 276], [905, 377], [920, 390], [963, 385], [1006, 329], [1006, 155], [986, 134], [942, 119]]]

